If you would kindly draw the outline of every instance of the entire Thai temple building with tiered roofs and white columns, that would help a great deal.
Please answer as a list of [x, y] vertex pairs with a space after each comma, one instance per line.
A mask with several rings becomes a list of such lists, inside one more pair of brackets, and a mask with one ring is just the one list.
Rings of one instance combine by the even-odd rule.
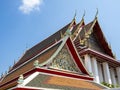
[[101, 90], [120, 85], [120, 62], [98, 23], [75, 17], [1, 76], [0, 90]]

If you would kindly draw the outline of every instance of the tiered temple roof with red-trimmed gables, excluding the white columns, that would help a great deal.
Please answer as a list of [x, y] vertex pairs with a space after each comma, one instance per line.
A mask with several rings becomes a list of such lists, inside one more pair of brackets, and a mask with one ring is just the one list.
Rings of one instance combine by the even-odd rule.
[[[86, 35], [89, 36], [87, 37]], [[94, 36], [96, 41], [99, 41], [97, 42], [98, 47], [92, 47], [91, 41], [88, 40], [88, 38], [92, 38], [92, 36]], [[81, 44], [82, 40], [83, 42]], [[36, 89], [40, 87], [65, 90], [103, 89], [105, 87], [93, 81], [93, 77], [91, 77], [90, 73], [86, 70], [81, 59], [81, 56], [85, 53], [95, 54], [100, 57], [100, 50], [96, 48], [102, 50], [102, 53], [106, 56], [103, 57], [103, 55], [101, 57], [105, 58], [109, 63], [114, 62], [114, 66], [120, 65], [120, 62], [116, 61], [113, 57], [112, 50], [102, 33], [97, 18], [87, 25], [85, 25], [84, 19], [78, 24], [76, 24], [75, 19], [73, 19], [72, 22], [62, 29], [27, 50], [20, 60], [9, 70], [8, 74], [2, 77], [0, 90], [12, 87], [14, 87], [13, 90], [19, 90], [19, 88], [27, 88], [26, 90], [30, 90], [30, 87], [36, 87]], [[68, 53], [66, 54], [68, 57], [64, 58], [70, 58], [64, 63], [70, 64], [72, 62], [74, 63], [73, 67], [69, 67], [69, 65], [66, 67], [67, 64], [65, 66], [58, 65], [59, 63], [56, 65], [57, 68], [53, 66], [53, 61], [58, 61], [55, 59], [57, 56], [63, 59], [63, 57], [60, 56], [61, 53], [64, 53], [62, 50], [66, 50], [65, 52]], [[36, 60], [39, 63], [37, 63], [39, 65], [38, 67], [34, 66]], [[75, 71], [74, 68], [76, 68], [77, 71]], [[36, 72], [39, 72], [39, 74], [30, 82], [22, 87], [17, 86], [20, 75], [24, 76], [24, 80], [27, 80], [27, 78], [34, 76], [33, 74]]]

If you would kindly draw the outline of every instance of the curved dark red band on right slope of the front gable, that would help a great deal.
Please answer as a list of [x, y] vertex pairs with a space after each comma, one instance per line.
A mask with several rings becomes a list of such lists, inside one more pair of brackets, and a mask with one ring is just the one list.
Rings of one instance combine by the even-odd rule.
[[86, 69], [84, 68], [82, 62], [80, 61], [80, 58], [79, 58], [79, 56], [77, 55], [77, 52], [75, 51], [75, 49], [74, 49], [74, 47], [73, 47], [73, 44], [72, 44], [70, 38], [68, 38], [68, 40], [67, 40], [67, 46], [68, 46], [68, 48], [69, 48], [69, 50], [70, 50], [70, 52], [71, 52], [71, 54], [72, 54], [72, 56], [73, 56], [76, 64], [77, 64], [77, 66], [79, 67], [79, 69], [80, 69], [84, 74], [89, 75], [89, 73], [88, 73], [88, 72], [86, 71]]

